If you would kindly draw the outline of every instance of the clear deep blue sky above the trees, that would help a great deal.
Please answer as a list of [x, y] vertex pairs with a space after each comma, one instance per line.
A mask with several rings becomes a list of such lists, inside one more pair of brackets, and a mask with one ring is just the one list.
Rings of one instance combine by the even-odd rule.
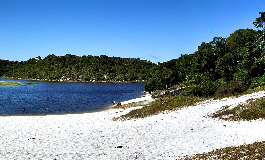
[[154, 63], [252, 28], [265, 0], [0, 0], [0, 59], [107, 55]]

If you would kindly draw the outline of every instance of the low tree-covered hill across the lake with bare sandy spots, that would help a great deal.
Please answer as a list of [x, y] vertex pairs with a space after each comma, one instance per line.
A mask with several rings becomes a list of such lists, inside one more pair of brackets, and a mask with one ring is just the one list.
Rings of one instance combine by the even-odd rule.
[[0, 76], [4, 78], [70, 80], [70, 81], [136, 81], [147, 80], [155, 66], [135, 58], [101, 56], [48, 55], [24, 62], [0, 59]]

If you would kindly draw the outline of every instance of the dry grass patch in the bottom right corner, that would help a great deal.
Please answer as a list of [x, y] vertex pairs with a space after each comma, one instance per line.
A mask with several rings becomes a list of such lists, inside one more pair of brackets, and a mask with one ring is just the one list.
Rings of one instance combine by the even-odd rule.
[[192, 155], [184, 160], [263, 160], [265, 159], [264, 153], [265, 141], [258, 141], [251, 144], [214, 149], [210, 152]]

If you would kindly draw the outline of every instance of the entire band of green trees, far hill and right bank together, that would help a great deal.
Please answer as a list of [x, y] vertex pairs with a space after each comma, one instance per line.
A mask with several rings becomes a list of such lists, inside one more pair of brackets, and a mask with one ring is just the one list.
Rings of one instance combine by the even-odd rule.
[[147, 80], [148, 92], [180, 85], [195, 96], [234, 94], [265, 85], [265, 12], [253, 29], [239, 29], [228, 38], [202, 42], [193, 54], [153, 64], [147, 60], [102, 56], [48, 55], [24, 62], [0, 60], [4, 78], [136, 81]]

